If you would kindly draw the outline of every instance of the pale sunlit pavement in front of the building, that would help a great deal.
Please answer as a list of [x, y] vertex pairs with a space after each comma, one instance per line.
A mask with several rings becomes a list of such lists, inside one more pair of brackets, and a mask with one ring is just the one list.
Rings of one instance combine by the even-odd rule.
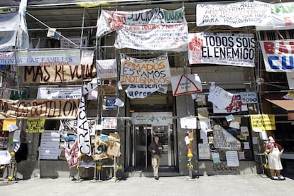
[[71, 181], [71, 178], [41, 178], [19, 181], [1, 181], [1, 195], [294, 195], [294, 180], [271, 180], [261, 175], [213, 175], [189, 179], [185, 176], [146, 177], [104, 180], [93, 183]]

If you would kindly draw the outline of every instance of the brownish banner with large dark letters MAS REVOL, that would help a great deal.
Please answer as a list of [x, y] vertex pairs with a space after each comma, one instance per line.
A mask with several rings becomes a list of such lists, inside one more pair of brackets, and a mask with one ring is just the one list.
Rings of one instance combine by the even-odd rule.
[[24, 84], [81, 82], [96, 78], [96, 63], [93, 65], [58, 65], [23, 67]]

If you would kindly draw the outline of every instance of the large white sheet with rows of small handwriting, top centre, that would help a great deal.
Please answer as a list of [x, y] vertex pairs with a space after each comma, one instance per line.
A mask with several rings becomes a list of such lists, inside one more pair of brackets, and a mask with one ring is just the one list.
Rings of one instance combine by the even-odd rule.
[[121, 26], [114, 46], [118, 49], [187, 51], [187, 23]]

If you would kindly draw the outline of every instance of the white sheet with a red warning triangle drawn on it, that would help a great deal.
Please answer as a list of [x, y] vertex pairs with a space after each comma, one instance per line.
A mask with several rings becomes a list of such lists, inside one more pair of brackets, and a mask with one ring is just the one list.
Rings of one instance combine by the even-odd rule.
[[173, 96], [202, 92], [201, 80], [197, 74], [172, 76], [171, 85], [173, 88]]

